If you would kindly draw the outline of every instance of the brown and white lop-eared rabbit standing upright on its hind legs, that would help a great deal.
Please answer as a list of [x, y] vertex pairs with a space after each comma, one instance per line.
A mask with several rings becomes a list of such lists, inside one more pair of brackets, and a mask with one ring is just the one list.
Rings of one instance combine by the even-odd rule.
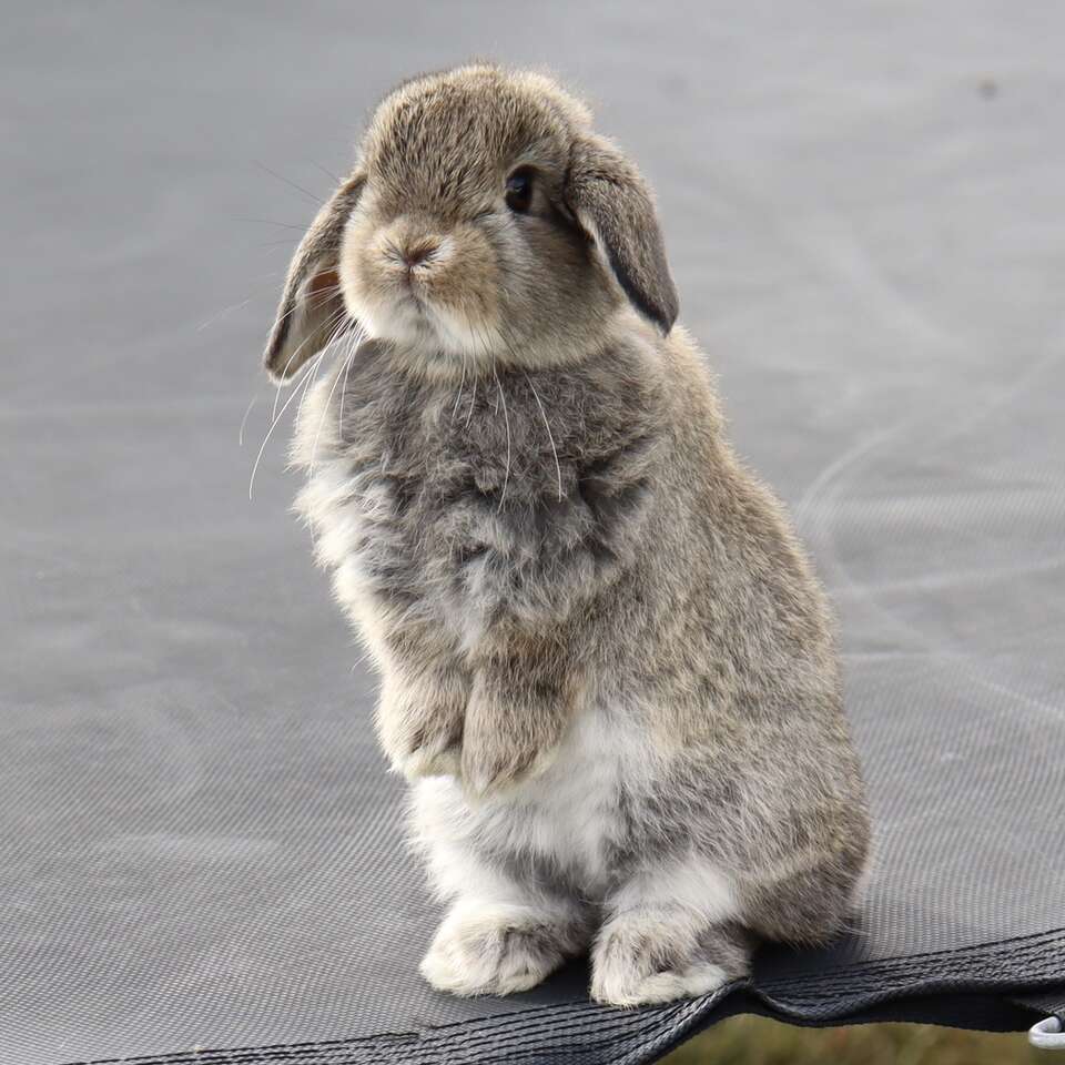
[[704, 995], [856, 903], [834, 621], [677, 315], [639, 171], [493, 64], [386, 97], [294, 255], [264, 361], [302, 374], [296, 508], [448, 904], [438, 990], [590, 953], [601, 1003]]

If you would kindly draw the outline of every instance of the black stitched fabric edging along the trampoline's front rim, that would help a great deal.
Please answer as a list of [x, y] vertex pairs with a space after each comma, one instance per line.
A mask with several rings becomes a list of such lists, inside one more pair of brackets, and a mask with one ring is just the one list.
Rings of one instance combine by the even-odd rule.
[[[478, 1021], [354, 1039], [108, 1058], [70, 1065], [645, 1065], [724, 1016], [757, 1012], [800, 1025], [920, 1020], [982, 1027], [977, 1010], [1002, 1005], [988, 1027], [1065, 1013], [1065, 929], [980, 946], [840, 966], [818, 974], [741, 981], [691, 1001], [620, 1011], [587, 1000]], [[727, 1001], [728, 1000], [728, 1001]], [[907, 1013], [907, 1001], [913, 1005]], [[1010, 1010], [1014, 1012], [1011, 1013]], [[878, 1011], [883, 1013], [879, 1016]]]

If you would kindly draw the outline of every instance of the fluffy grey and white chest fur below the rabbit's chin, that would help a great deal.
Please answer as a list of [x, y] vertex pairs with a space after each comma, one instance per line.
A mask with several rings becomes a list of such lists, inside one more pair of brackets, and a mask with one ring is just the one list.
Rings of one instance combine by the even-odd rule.
[[595, 382], [534, 377], [443, 387], [338, 367], [308, 394], [297, 507], [364, 625], [384, 607], [469, 649], [505, 613], [561, 620], [631, 554], [649, 454], [636, 419]]

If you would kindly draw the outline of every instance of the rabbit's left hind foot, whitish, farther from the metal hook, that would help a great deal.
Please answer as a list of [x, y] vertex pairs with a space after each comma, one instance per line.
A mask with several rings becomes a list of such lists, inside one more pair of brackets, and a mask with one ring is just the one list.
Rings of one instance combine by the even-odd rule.
[[580, 950], [576, 929], [527, 906], [463, 906], [440, 925], [422, 975], [454, 995], [528, 991]]

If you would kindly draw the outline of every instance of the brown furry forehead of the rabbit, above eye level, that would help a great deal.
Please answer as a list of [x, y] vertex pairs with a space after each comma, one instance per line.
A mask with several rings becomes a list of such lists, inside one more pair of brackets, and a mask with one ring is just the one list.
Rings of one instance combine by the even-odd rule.
[[520, 162], [565, 169], [572, 133], [549, 101], [506, 81], [427, 83], [386, 100], [363, 143], [371, 176], [398, 187], [495, 184]]

